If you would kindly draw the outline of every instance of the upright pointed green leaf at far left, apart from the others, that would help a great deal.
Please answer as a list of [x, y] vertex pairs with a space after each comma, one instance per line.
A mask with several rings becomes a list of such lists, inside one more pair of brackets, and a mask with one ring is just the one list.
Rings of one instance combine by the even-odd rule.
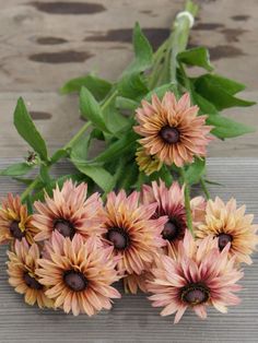
[[19, 134], [38, 153], [43, 161], [47, 161], [47, 147], [40, 133], [37, 131], [32, 117], [27, 113], [23, 98], [19, 98], [14, 110], [14, 126]]

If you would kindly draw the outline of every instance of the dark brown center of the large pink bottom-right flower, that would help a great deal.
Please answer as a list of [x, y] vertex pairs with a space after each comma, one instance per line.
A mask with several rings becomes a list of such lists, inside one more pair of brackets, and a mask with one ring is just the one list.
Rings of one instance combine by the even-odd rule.
[[209, 289], [200, 284], [190, 284], [181, 289], [181, 299], [192, 306], [206, 303], [209, 297]]

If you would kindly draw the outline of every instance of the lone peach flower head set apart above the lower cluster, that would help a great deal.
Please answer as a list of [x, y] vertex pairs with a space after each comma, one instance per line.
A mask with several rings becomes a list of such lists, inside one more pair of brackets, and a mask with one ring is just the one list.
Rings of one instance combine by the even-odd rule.
[[189, 94], [178, 102], [171, 92], [162, 102], [153, 95], [152, 104], [143, 100], [137, 110], [139, 126], [134, 131], [143, 137], [139, 142], [149, 155], [167, 165], [181, 167], [192, 163], [195, 156], [206, 156], [211, 127], [206, 126], [207, 116], [197, 116], [198, 110], [190, 106]]

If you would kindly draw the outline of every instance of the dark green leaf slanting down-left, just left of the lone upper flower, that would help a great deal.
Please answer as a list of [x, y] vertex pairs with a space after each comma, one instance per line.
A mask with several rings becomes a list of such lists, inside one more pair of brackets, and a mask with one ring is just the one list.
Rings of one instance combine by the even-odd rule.
[[129, 131], [121, 139], [112, 143], [103, 153], [96, 156], [93, 161], [97, 163], [113, 162], [119, 156], [130, 152], [138, 139], [138, 135], [133, 131]]

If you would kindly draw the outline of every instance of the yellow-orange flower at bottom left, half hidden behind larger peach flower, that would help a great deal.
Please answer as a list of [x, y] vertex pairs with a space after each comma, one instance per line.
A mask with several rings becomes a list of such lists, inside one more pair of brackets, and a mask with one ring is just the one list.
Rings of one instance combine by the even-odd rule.
[[17, 293], [24, 294], [25, 303], [40, 307], [52, 307], [52, 300], [45, 295], [44, 287], [35, 273], [40, 257], [38, 246], [28, 246], [25, 238], [16, 240], [14, 251], [8, 251], [9, 283]]

